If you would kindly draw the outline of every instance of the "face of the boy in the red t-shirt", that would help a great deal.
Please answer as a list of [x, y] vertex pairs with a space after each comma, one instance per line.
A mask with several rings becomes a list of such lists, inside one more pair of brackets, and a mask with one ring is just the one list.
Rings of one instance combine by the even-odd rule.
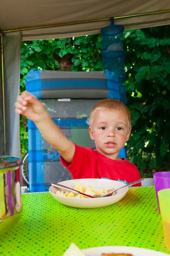
[[97, 151], [118, 160], [119, 151], [130, 136], [127, 114], [117, 110], [96, 110], [89, 133]]

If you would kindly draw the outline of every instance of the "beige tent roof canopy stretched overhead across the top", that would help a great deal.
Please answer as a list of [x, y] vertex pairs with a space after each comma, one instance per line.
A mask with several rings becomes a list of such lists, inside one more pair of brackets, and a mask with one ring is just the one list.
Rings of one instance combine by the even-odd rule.
[[[83, 22], [110, 17], [136, 15], [170, 9], [168, 0], [1, 0], [0, 30], [24, 29], [37, 26]], [[64, 38], [99, 33], [110, 20], [79, 23], [51, 28], [22, 31], [22, 40]], [[125, 17], [115, 20], [125, 29], [137, 29], [170, 24], [170, 12]], [[17, 34], [11, 32], [10, 35]]]

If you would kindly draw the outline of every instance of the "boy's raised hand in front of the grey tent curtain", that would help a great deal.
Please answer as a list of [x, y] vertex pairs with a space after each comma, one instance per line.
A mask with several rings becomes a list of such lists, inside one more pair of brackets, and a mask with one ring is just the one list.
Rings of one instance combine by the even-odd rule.
[[26, 116], [35, 123], [43, 120], [48, 113], [42, 103], [33, 95], [31, 95], [31, 93], [26, 91], [17, 97], [15, 107], [16, 113]]

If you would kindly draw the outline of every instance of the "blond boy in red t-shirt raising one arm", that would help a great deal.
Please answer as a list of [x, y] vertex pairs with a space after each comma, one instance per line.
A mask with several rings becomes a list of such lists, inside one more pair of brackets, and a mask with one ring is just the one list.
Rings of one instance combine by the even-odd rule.
[[92, 108], [89, 133], [95, 141], [96, 150], [80, 147], [68, 140], [42, 103], [30, 93], [25, 91], [18, 96], [15, 106], [16, 113], [31, 119], [44, 139], [57, 149], [62, 165], [73, 179], [108, 178], [130, 183], [140, 178], [136, 166], [118, 156], [131, 131], [130, 112], [122, 102], [104, 99]]

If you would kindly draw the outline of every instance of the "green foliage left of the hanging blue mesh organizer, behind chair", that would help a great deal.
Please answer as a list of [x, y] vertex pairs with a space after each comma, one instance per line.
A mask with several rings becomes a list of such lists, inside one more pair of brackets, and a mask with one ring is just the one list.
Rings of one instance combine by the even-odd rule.
[[[74, 38], [22, 41], [20, 92], [26, 90], [26, 75], [33, 69], [63, 70], [59, 59], [71, 55], [72, 71], [103, 70], [101, 57], [102, 36], [89, 35]], [[28, 151], [27, 119], [20, 116], [21, 154]]]

